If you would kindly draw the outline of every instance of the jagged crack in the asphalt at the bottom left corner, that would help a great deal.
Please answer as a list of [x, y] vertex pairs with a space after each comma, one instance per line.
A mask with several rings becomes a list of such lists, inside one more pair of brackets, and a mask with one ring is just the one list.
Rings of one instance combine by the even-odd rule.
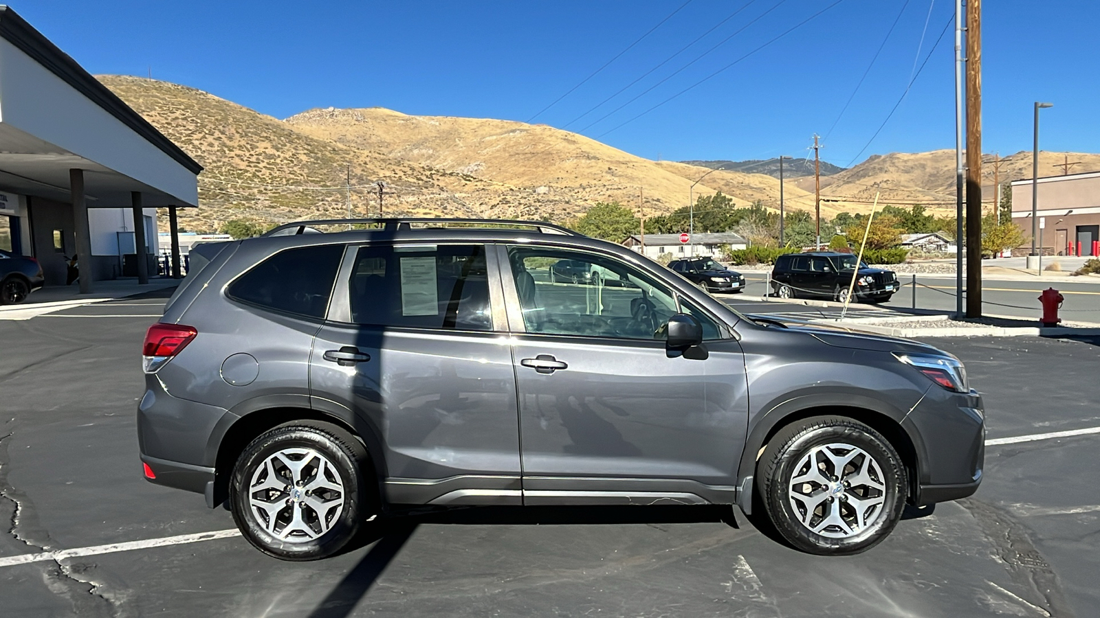
[[[9, 420], [4, 424], [11, 422]], [[9, 431], [0, 437], [0, 503], [9, 503], [11, 508], [8, 534], [34, 553], [56, 551], [59, 548], [51, 541], [50, 534], [38, 525], [31, 500], [8, 481], [8, 473], [11, 470], [8, 446], [13, 435], [14, 431]], [[43, 584], [50, 592], [68, 600], [73, 614], [81, 618], [86, 616], [117, 618], [122, 615], [121, 604], [117, 603], [118, 599], [114, 598], [114, 595], [100, 592], [99, 588], [102, 584], [85, 575], [85, 572], [90, 570], [89, 566], [66, 564], [67, 562], [55, 560], [53, 563], [35, 566], [42, 570]]]

